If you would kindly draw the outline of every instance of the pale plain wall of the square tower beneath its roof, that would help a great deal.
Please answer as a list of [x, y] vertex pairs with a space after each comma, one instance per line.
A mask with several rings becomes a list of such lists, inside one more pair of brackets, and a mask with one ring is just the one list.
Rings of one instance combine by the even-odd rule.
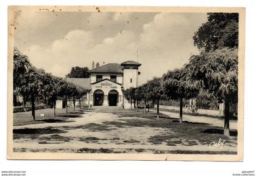
[[[132, 79], [132, 83], [130, 83]], [[138, 70], [137, 69], [124, 69], [124, 89], [130, 87], [137, 87], [138, 85]]]

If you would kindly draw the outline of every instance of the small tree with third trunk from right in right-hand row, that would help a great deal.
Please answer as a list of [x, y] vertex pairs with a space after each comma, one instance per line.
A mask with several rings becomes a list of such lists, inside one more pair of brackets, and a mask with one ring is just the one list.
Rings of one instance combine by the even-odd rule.
[[157, 118], [159, 118], [159, 100], [163, 96], [163, 90], [161, 86], [161, 78], [153, 78], [146, 84], [146, 92], [148, 92], [148, 98], [151, 100], [157, 100]]

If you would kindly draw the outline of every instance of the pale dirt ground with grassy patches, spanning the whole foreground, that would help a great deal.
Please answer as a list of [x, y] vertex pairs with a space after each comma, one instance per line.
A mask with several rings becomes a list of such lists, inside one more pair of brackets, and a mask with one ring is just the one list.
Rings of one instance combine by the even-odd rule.
[[157, 120], [154, 113], [83, 110], [62, 122], [14, 126], [13, 151], [236, 154], [236, 130], [224, 137], [212, 124]]

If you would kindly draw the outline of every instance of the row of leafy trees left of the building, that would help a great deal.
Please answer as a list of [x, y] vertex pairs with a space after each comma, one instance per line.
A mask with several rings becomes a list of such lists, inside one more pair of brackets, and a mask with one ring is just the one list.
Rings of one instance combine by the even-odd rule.
[[13, 50], [13, 97], [23, 97], [23, 109], [26, 111], [26, 101], [30, 100], [32, 117], [35, 120], [35, 101], [44, 100], [52, 104], [55, 115], [56, 100], [64, 99], [66, 113], [67, 100], [73, 99], [74, 110], [76, 99], [82, 98], [87, 90], [78, 87], [62, 78], [46, 73], [43, 69], [32, 66], [29, 58], [23, 55], [16, 47]]

